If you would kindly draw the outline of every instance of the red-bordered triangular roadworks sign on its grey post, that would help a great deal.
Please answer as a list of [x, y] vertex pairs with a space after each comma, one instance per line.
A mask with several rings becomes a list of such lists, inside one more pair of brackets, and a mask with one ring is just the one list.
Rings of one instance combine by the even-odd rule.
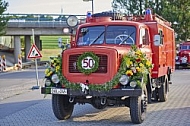
[[39, 89], [39, 77], [38, 77], [38, 64], [37, 64], [37, 58], [41, 58], [42, 55], [40, 54], [39, 49], [35, 45], [35, 39], [34, 39], [34, 29], [32, 29], [32, 36], [33, 36], [33, 45], [30, 48], [30, 51], [28, 53], [27, 58], [28, 59], [34, 59], [35, 60], [35, 68], [36, 68], [36, 81], [37, 85], [33, 86], [32, 89]]

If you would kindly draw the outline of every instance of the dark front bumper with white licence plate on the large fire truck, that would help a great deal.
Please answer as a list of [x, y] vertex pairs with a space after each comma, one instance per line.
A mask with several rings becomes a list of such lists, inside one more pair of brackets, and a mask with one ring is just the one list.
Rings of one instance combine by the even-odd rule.
[[[55, 89], [53, 87], [42, 87], [41, 88], [41, 94], [57, 94], [52, 93], [52, 89]], [[68, 88], [56, 88], [56, 89], [65, 89], [66, 93], [60, 94], [60, 95], [67, 95], [71, 97], [76, 96], [92, 96], [92, 97], [98, 97], [98, 96], [105, 96], [105, 97], [119, 97], [119, 96], [141, 96], [142, 89], [112, 89], [110, 91], [93, 91], [89, 90], [88, 93], [84, 93], [82, 90], [72, 90]]]

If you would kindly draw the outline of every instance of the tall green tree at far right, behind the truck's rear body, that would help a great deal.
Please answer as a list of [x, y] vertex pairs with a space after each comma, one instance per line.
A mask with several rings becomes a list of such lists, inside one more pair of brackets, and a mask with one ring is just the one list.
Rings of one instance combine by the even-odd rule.
[[187, 41], [190, 39], [190, 1], [168, 0], [166, 5], [163, 16], [172, 22], [177, 40]]

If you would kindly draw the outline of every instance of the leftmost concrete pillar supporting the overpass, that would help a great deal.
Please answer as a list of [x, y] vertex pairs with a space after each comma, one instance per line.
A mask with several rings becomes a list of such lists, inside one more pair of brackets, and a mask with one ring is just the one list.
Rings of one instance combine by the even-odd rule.
[[21, 41], [20, 36], [14, 36], [14, 59], [18, 63], [18, 55], [21, 54]]

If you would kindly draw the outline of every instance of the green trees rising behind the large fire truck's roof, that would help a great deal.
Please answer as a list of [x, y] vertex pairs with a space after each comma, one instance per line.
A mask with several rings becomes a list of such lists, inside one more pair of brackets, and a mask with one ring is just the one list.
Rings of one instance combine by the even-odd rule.
[[146, 8], [151, 8], [172, 23], [177, 40], [190, 39], [190, 0], [113, 0], [112, 7], [127, 15], [142, 15]]

